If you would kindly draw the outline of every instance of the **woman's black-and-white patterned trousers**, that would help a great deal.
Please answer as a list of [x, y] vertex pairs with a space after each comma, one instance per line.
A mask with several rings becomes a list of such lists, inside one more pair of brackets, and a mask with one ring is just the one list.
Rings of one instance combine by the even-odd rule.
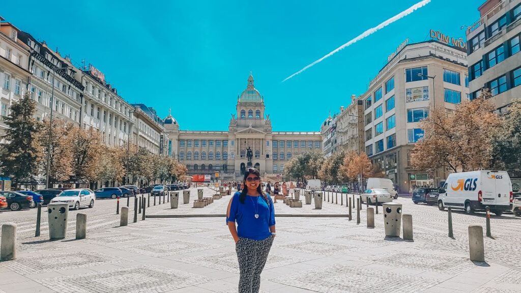
[[235, 244], [239, 260], [239, 293], [258, 293], [261, 273], [268, 258], [274, 236], [263, 240], [239, 238]]

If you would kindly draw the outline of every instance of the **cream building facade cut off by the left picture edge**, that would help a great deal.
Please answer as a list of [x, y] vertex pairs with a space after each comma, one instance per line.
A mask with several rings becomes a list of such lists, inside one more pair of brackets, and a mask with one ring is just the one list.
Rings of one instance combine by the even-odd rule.
[[[0, 20], [4, 20], [0, 17]], [[18, 30], [8, 22], [0, 23], [0, 143], [4, 143], [7, 126], [4, 117], [9, 108], [27, 91], [31, 72], [29, 46], [18, 39]]]

